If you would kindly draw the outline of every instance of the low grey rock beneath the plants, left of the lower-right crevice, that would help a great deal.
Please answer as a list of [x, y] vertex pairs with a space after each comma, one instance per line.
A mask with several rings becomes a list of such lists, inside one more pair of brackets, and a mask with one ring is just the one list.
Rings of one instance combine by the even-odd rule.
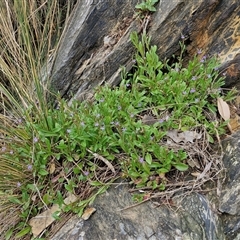
[[183, 201], [175, 197], [176, 210], [153, 202], [131, 207], [134, 203], [128, 190], [126, 184], [111, 187], [98, 196], [93, 204], [97, 211], [89, 220], [73, 217], [52, 240], [225, 239], [218, 216], [203, 195], [192, 193]]

